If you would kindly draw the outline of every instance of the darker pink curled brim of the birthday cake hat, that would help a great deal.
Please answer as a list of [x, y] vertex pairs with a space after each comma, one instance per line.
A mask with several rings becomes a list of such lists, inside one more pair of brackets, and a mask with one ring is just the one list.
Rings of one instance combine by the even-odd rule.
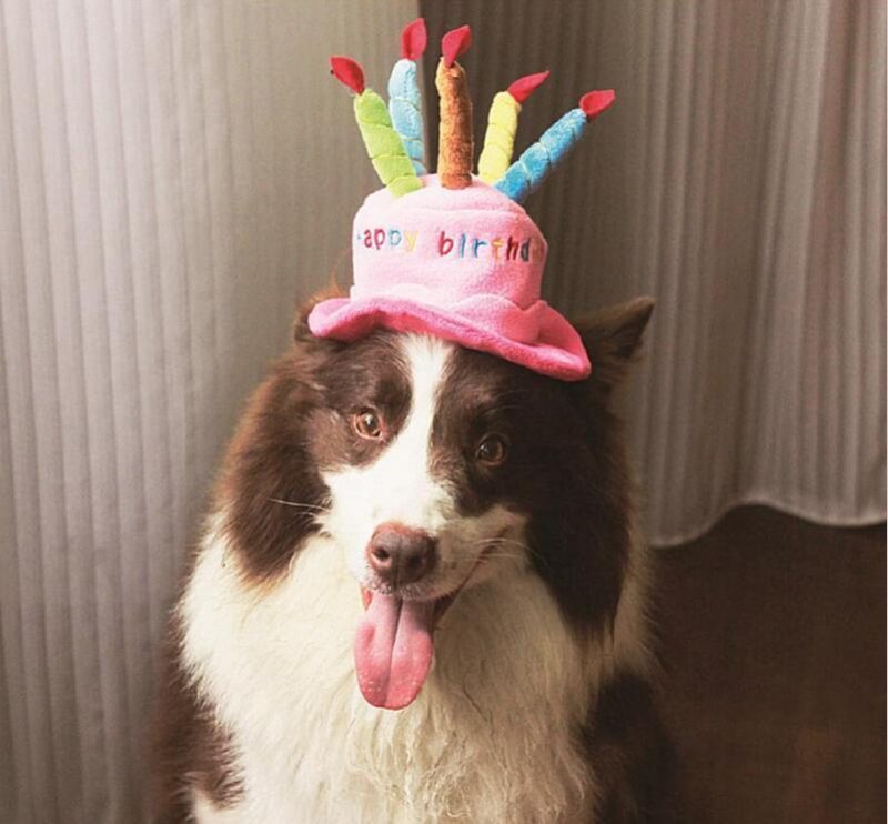
[[562, 381], [581, 381], [592, 372], [579, 334], [547, 304], [543, 308], [539, 335], [534, 343], [505, 338], [485, 329], [475, 319], [438, 307], [393, 297], [322, 301], [309, 315], [309, 329], [319, 338], [346, 342], [363, 338], [374, 329], [431, 334]]

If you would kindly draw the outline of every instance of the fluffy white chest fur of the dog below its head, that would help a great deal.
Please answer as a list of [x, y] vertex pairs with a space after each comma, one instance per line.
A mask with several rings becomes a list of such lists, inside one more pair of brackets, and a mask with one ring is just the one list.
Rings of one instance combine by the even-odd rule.
[[354, 676], [361, 601], [336, 546], [245, 590], [208, 542], [182, 602], [184, 655], [233, 734], [244, 794], [201, 822], [557, 822], [587, 808], [575, 743], [584, 659], [528, 571], [464, 592], [405, 710], [370, 706]]

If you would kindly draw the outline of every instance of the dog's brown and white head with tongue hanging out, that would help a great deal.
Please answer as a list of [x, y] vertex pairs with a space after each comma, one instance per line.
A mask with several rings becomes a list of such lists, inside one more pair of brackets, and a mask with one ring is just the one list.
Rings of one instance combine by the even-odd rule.
[[379, 331], [295, 345], [254, 396], [220, 495], [244, 574], [289, 574], [329, 534], [366, 607], [355, 662], [371, 703], [425, 679], [434, 627], [463, 587], [534, 569], [581, 632], [613, 620], [629, 480], [609, 398], [653, 302], [577, 324], [593, 362], [566, 383], [436, 339]]

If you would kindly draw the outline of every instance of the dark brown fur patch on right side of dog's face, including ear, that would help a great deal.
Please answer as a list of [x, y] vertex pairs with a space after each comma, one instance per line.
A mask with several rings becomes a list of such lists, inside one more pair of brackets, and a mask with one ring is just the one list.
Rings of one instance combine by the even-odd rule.
[[[633, 484], [609, 395], [652, 310], [642, 299], [585, 322], [594, 363], [586, 381], [565, 383], [460, 350], [441, 392], [435, 472], [458, 491], [466, 513], [504, 503], [529, 515], [533, 563], [584, 631], [609, 625], [623, 585]], [[509, 443], [502, 466], [473, 460], [486, 433]]]

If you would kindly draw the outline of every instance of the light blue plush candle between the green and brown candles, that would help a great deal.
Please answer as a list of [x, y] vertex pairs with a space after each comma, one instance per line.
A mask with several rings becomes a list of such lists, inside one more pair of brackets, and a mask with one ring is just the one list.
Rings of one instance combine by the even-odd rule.
[[416, 61], [423, 56], [425, 44], [425, 20], [418, 18], [407, 23], [401, 32], [401, 60], [389, 78], [389, 114], [416, 174], [426, 173], [422, 98], [416, 81]]

